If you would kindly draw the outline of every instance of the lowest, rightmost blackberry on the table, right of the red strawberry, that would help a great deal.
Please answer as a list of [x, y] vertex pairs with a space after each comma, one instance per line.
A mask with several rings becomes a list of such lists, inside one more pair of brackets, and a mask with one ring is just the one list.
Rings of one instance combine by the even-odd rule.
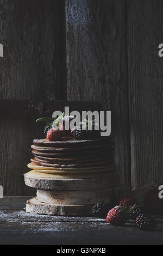
[[140, 214], [136, 217], [136, 226], [141, 230], [153, 231], [155, 228], [155, 221], [150, 215]]

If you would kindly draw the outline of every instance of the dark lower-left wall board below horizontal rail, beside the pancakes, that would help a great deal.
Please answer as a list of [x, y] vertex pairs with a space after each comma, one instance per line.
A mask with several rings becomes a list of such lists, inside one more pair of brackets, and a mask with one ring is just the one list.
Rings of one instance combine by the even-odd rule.
[[23, 173], [28, 171], [27, 164], [32, 157], [30, 145], [34, 137], [43, 137], [42, 125], [35, 124], [30, 118], [1, 119], [1, 176], [0, 184], [4, 195], [34, 195], [35, 190], [24, 184]]

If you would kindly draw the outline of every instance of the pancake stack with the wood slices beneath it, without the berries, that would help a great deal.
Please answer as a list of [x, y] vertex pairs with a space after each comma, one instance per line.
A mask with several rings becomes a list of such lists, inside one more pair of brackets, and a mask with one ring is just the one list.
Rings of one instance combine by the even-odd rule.
[[34, 140], [35, 156], [24, 174], [26, 185], [37, 189], [26, 210], [36, 214], [91, 216], [97, 202], [110, 203], [117, 185], [110, 137], [78, 141]]

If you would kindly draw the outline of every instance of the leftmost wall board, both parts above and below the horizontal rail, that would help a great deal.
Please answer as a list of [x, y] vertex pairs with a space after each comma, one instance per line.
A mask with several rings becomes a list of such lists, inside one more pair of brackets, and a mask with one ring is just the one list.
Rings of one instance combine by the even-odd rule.
[[[0, 99], [64, 100], [64, 1], [0, 0], [0, 10], [0, 43], [4, 47]], [[33, 103], [30, 105], [35, 111]], [[0, 185], [5, 195], [35, 194], [24, 185], [22, 175], [32, 156], [33, 139], [44, 136], [43, 124], [36, 124], [35, 119], [12, 117], [12, 111], [1, 117]]]

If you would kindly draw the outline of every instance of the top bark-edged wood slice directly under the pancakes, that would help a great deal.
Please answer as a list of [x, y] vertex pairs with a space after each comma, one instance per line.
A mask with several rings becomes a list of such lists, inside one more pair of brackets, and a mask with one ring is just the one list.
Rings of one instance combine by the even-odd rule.
[[98, 190], [117, 185], [117, 178], [114, 172], [90, 179], [39, 178], [39, 174], [36, 172], [35, 177], [30, 176], [30, 174], [24, 174], [24, 181], [29, 187], [47, 191]]

